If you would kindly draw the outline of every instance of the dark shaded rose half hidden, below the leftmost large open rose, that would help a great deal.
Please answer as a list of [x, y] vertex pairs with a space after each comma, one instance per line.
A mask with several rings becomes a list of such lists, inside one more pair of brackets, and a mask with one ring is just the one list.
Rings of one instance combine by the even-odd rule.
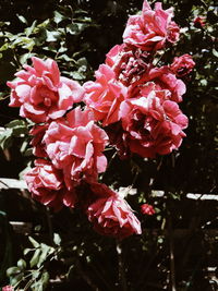
[[31, 145], [33, 146], [33, 154], [39, 158], [46, 158], [48, 155], [45, 150], [45, 143], [43, 143], [44, 135], [48, 130], [49, 123], [35, 125], [29, 134], [33, 135], [33, 140], [31, 141]]

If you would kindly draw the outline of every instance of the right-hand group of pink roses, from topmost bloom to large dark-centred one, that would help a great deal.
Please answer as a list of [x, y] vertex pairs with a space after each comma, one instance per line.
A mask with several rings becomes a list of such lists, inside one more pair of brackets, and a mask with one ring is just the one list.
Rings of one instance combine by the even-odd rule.
[[84, 84], [84, 100], [100, 121], [121, 158], [143, 158], [178, 149], [187, 126], [179, 108], [186, 87], [181, 77], [191, 73], [189, 54], [172, 64], [157, 65], [157, 56], [179, 40], [172, 8], [144, 1], [142, 13], [130, 16], [123, 44], [116, 45], [96, 71], [95, 82]]

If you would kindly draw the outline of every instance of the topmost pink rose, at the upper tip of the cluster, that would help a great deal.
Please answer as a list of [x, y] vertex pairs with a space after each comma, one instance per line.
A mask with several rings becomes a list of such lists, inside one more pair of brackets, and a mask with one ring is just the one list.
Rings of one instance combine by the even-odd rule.
[[146, 51], [161, 49], [166, 41], [175, 43], [180, 29], [171, 21], [172, 16], [172, 8], [162, 10], [161, 3], [157, 2], [153, 11], [147, 1], [144, 1], [142, 14], [130, 16], [123, 41]]

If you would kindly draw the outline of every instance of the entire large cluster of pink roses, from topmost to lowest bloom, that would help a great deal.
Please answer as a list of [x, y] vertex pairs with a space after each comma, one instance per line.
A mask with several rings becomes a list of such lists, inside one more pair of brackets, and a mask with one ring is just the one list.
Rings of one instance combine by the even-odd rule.
[[187, 118], [178, 105], [185, 84], [178, 77], [194, 62], [184, 54], [171, 65], [154, 64], [156, 52], [179, 39], [172, 16], [172, 9], [156, 3], [152, 10], [145, 1], [94, 82], [81, 86], [60, 76], [53, 60], [34, 57], [33, 66], [8, 83], [10, 106], [36, 123], [29, 134], [37, 159], [25, 177], [33, 197], [57, 210], [81, 207], [102, 234], [122, 239], [142, 232], [130, 205], [98, 183], [107, 168], [105, 147], [114, 146], [121, 158], [133, 153], [155, 158], [177, 149], [185, 136]]

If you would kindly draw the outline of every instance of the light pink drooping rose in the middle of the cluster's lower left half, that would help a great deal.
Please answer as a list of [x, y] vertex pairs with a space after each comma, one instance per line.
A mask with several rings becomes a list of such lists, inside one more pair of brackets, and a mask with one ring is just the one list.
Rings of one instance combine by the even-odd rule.
[[108, 136], [94, 123], [90, 110], [76, 107], [65, 119], [51, 122], [43, 142], [52, 163], [63, 170], [68, 187], [82, 178], [96, 180], [106, 170]]

